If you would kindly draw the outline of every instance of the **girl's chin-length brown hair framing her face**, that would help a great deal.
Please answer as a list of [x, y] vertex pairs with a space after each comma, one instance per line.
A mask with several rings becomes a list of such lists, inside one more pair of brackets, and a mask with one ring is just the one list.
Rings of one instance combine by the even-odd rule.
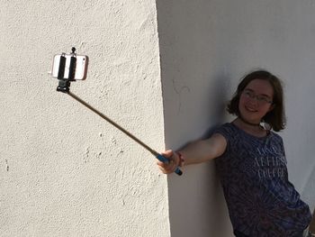
[[263, 121], [269, 123], [275, 132], [283, 130], [285, 127], [285, 112], [284, 112], [284, 90], [282, 82], [278, 77], [271, 74], [266, 70], [257, 70], [249, 73], [245, 76], [241, 82], [238, 84], [237, 91], [235, 92], [233, 98], [229, 101], [227, 110], [229, 114], [235, 114], [239, 116], [238, 102], [239, 97], [245, 87], [254, 79], [266, 80], [274, 89], [274, 99], [273, 106], [274, 109], [268, 112], [264, 117]]

